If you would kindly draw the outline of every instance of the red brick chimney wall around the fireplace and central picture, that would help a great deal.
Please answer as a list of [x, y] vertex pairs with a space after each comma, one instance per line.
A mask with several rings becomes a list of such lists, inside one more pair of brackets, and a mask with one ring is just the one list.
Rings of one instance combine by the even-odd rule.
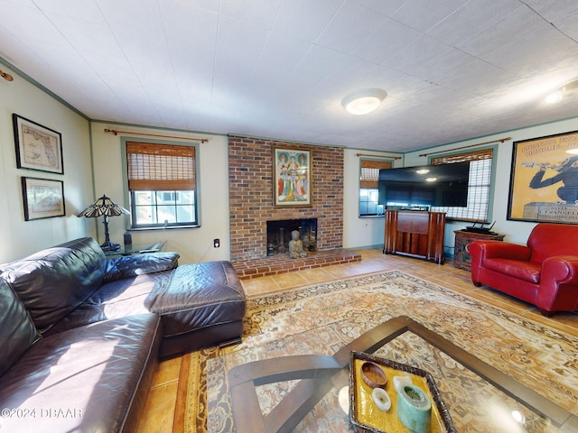
[[[312, 207], [275, 207], [273, 149], [312, 153]], [[317, 219], [317, 249], [343, 245], [343, 149], [228, 136], [231, 261], [266, 256], [266, 221]]]

